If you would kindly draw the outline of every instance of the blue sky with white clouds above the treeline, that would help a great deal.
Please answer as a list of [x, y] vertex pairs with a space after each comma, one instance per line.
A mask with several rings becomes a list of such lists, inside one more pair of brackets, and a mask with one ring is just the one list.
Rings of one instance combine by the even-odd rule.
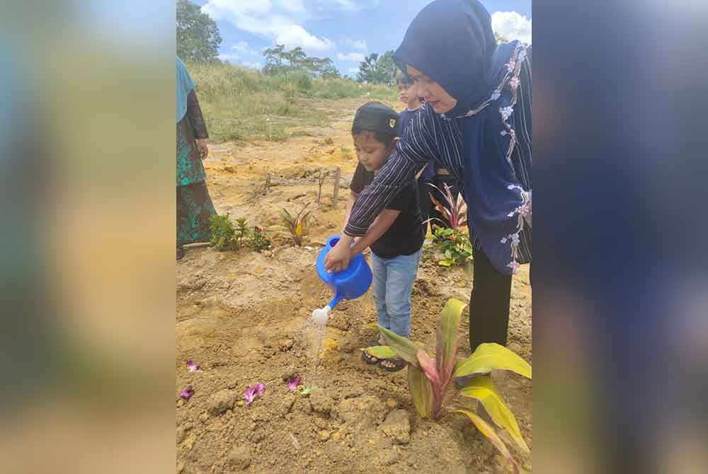
[[[493, 27], [531, 42], [531, 0], [481, 0]], [[198, 0], [215, 19], [222, 59], [255, 69], [264, 48], [285, 43], [310, 56], [329, 57], [341, 74], [354, 75], [363, 55], [395, 50], [411, 20], [430, 0]]]

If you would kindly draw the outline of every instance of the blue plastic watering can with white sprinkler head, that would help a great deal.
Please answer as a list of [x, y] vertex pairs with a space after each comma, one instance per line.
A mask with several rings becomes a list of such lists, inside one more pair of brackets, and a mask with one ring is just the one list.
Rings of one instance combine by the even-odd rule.
[[339, 236], [331, 236], [317, 256], [317, 275], [325, 284], [333, 289], [334, 297], [321, 309], [312, 311], [312, 320], [320, 325], [325, 325], [329, 318], [329, 312], [343, 299], [356, 299], [366, 293], [371, 286], [372, 274], [364, 256], [355, 255], [349, 261], [349, 266], [341, 272], [328, 272], [324, 267], [324, 258], [329, 250], [337, 245]]

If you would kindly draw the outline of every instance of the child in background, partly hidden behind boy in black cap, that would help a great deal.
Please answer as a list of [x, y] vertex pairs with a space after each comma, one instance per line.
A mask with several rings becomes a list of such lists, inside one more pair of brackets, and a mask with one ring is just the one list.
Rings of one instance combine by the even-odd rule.
[[[418, 97], [418, 84], [413, 81], [413, 78], [406, 73], [402, 73], [396, 84], [399, 88], [399, 100], [406, 104], [406, 108], [399, 114], [400, 117], [400, 136], [402, 137], [406, 126], [411, 122], [416, 113], [421, 110], [423, 103]], [[418, 173], [418, 204], [421, 207], [421, 218], [423, 219], [423, 234], [428, 232], [428, 217], [433, 209], [433, 202], [430, 200], [430, 192], [435, 190], [429, 186], [435, 179], [435, 164], [430, 161], [421, 173]]]

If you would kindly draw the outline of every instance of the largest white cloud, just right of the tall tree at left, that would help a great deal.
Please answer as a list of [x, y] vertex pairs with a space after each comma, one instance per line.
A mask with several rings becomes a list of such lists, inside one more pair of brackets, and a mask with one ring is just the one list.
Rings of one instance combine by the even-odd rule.
[[[313, 35], [302, 26], [314, 18], [313, 8], [318, 5], [311, 8], [307, 0], [209, 0], [202, 6], [202, 12], [216, 21], [231, 23], [239, 30], [268, 37], [288, 49], [299, 46], [312, 54], [331, 51], [335, 47], [329, 38]], [[341, 0], [336, 5], [340, 9], [349, 9], [352, 3]]]

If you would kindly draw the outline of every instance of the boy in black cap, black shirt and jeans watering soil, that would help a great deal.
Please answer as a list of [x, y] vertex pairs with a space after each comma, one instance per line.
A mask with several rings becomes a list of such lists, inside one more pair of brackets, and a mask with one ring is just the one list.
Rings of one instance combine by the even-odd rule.
[[[350, 185], [344, 226], [359, 193], [371, 184], [375, 173], [393, 153], [398, 130], [399, 115], [387, 105], [370, 102], [357, 110], [352, 137], [359, 163]], [[411, 178], [352, 248], [353, 253], [371, 248], [372, 293], [378, 323], [404, 337], [411, 334], [411, 291], [424, 238], [418, 190]], [[375, 345], [385, 345], [383, 338], [379, 337], [369, 347]], [[362, 358], [387, 371], [399, 371], [406, 366], [403, 359], [381, 360], [367, 352], [362, 353]]]

